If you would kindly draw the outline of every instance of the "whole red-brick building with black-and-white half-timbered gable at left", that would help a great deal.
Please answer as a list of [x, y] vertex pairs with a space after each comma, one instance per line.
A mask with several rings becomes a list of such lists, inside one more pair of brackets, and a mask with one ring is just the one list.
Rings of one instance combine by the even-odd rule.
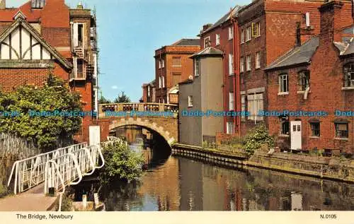
[[[0, 2], [0, 86], [42, 86], [49, 73], [79, 91], [84, 111], [98, 111], [96, 17], [64, 0], [32, 0], [18, 8]], [[78, 141], [88, 141], [84, 117]]]

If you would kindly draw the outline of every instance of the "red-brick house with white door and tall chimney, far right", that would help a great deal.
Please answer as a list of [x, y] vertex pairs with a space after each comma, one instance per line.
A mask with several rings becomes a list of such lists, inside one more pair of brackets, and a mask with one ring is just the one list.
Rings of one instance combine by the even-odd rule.
[[265, 69], [268, 109], [295, 112], [271, 115], [270, 134], [278, 135], [281, 148], [353, 153], [353, 114], [335, 113], [353, 113], [353, 15], [344, 1], [318, 10], [319, 35], [301, 44], [298, 32], [297, 46]]

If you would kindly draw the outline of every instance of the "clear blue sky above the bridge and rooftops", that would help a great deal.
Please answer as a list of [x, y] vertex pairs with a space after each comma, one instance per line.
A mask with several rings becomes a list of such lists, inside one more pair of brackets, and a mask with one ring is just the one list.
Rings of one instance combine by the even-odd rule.
[[[8, 7], [27, 0], [7, 0]], [[50, 0], [47, 0], [50, 1]], [[66, 0], [74, 7], [78, 0]], [[230, 7], [251, 0], [86, 0], [96, 6], [100, 80], [103, 96], [121, 91], [137, 102], [142, 83], [154, 79], [154, 50], [181, 38], [195, 38], [202, 25], [215, 23]]]

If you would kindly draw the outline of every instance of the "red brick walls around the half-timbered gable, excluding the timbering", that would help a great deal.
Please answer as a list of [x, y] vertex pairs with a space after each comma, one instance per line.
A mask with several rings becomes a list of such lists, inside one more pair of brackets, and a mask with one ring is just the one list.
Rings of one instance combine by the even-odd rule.
[[[42, 86], [47, 75], [54, 73], [55, 76], [67, 81], [71, 90], [79, 91], [84, 111], [93, 111], [95, 105], [93, 71], [89, 71], [88, 69], [94, 69], [93, 66], [95, 65], [92, 62], [85, 62], [91, 63], [84, 65], [86, 78], [76, 80], [72, 77], [75, 67], [73, 57], [80, 57], [76, 49], [72, 48], [72, 42], [74, 41], [72, 40], [74, 38], [72, 24], [84, 23], [84, 27], [86, 28], [86, 33], [83, 34], [84, 41], [86, 42], [84, 49], [92, 49], [91, 27], [93, 27], [93, 24], [91, 24], [91, 21], [94, 18], [91, 16], [91, 11], [81, 6], [77, 9], [71, 9], [65, 4], [64, 0], [47, 0], [42, 8], [33, 9], [31, 1], [28, 1], [18, 8], [4, 8], [0, 10], [0, 35], [14, 23], [14, 16], [18, 11], [23, 13], [25, 21], [37, 30], [47, 45], [55, 49], [64, 60], [69, 61], [72, 68], [63, 66], [60, 61], [54, 58], [38, 61], [13, 61], [15, 64], [18, 63], [18, 66], [13, 66], [11, 62], [3, 60], [2, 63], [4, 64], [1, 64], [0, 68], [1, 90], [11, 91], [13, 88], [24, 84]], [[88, 61], [88, 58], [85, 58], [84, 61]], [[36, 63], [35, 68], [33, 68], [31, 63]], [[45, 63], [46, 66], [38, 66], [42, 63]], [[75, 136], [76, 140], [89, 141], [89, 125], [92, 123], [93, 117], [85, 117], [83, 119], [82, 131]]]

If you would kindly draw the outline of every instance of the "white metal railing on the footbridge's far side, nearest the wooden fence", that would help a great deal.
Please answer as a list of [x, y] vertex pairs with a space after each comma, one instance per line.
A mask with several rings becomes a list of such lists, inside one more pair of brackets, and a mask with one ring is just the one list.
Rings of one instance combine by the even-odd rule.
[[87, 147], [87, 143], [79, 143], [65, 148], [58, 148], [55, 151], [42, 153], [31, 158], [16, 161], [13, 163], [11, 175], [8, 179], [8, 186], [11, 184], [13, 175], [15, 175], [13, 182], [14, 194], [18, 194], [38, 186], [38, 184], [45, 181], [45, 166], [48, 161], [54, 158], [59, 158], [67, 153], [78, 151], [84, 147]]

